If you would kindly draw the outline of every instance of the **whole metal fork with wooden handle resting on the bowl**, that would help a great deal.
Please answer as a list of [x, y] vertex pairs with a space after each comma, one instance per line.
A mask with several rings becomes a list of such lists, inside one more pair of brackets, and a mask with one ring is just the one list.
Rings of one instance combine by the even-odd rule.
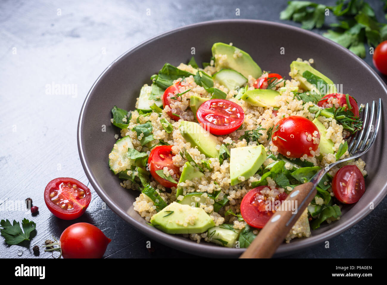
[[[322, 168], [311, 178], [310, 182], [296, 186], [284, 201], [287, 201], [286, 203], [288, 203], [288, 205], [294, 203], [297, 206], [297, 211], [294, 211], [294, 213], [292, 213], [291, 209], [280, 209], [279, 211], [276, 211], [264, 228], [259, 231], [257, 237], [255, 237], [240, 258], [272, 257], [274, 252], [276, 252], [277, 247], [283, 243], [292, 226], [296, 223], [298, 218], [300, 218], [310, 201], [315, 197], [317, 193], [316, 186], [319, 184], [322, 177], [337, 164], [360, 157], [370, 150], [376, 140], [380, 127], [382, 100], [379, 99], [378, 102], [375, 123], [375, 101], [372, 101], [371, 114], [368, 117], [369, 109], [367, 103], [363, 112], [363, 128], [361, 128], [361, 130], [356, 133], [356, 136], [353, 136], [349, 142], [349, 156], [325, 166], [325, 168]], [[367, 123], [368, 126], [366, 128], [365, 126]]]

